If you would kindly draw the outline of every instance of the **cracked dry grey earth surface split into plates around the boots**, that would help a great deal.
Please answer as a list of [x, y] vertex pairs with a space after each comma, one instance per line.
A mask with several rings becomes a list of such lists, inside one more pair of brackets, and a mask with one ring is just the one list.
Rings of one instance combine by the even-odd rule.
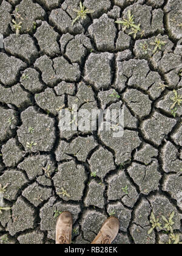
[[[173, 212], [182, 240], [182, 1], [83, 4], [95, 12], [72, 26], [79, 0], [0, 0], [0, 243], [55, 243], [64, 211], [73, 243], [90, 243], [110, 215], [114, 243], [168, 243]], [[136, 35], [115, 23], [129, 10]], [[60, 131], [72, 104], [123, 108], [123, 137]], [[161, 229], [149, 235], [152, 212]]]

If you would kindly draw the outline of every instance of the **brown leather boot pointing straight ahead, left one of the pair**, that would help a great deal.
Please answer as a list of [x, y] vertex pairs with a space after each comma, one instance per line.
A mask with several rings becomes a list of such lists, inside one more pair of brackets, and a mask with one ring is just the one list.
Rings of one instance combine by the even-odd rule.
[[56, 244], [70, 244], [72, 242], [72, 226], [71, 213], [61, 213], [56, 224]]

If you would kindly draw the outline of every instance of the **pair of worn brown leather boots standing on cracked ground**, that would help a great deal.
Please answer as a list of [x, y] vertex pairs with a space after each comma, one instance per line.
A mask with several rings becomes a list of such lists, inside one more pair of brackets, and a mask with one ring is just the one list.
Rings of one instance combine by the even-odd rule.
[[[71, 213], [61, 213], [56, 224], [56, 244], [70, 244], [72, 242], [72, 226]], [[120, 222], [117, 218], [106, 219], [92, 244], [111, 244], [118, 235], [119, 227]]]

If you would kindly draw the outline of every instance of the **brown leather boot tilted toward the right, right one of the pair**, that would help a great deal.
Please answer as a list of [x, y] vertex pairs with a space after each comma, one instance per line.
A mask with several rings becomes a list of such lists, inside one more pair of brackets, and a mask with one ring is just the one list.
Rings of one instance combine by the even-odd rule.
[[106, 219], [92, 244], [111, 244], [118, 235], [120, 221], [115, 217]]

